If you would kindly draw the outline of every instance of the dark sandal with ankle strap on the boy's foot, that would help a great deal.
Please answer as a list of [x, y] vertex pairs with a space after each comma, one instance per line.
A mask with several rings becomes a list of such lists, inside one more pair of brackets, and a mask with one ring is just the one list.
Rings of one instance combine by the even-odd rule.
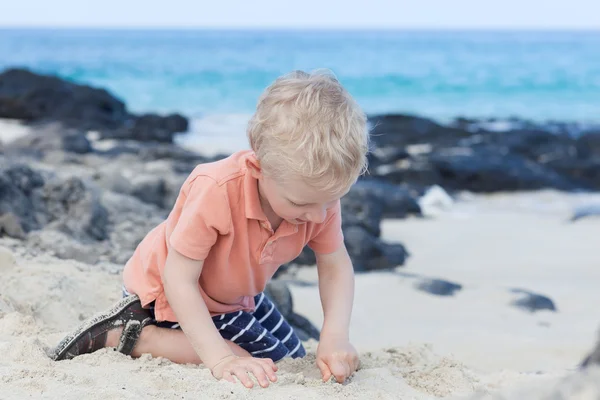
[[143, 308], [137, 295], [128, 296], [107, 312], [82, 323], [54, 349], [54, 361], [69, 360], [81, 354], [93, 353], [106, 347], [108, 331], [123, 327], [117, 351], [131, 355], [142, 329], [153, 321], [150, 311]]

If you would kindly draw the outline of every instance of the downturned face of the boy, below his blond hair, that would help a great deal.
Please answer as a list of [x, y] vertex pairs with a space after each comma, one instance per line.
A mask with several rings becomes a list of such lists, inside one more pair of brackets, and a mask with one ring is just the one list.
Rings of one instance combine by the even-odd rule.
[[293, 224], [325, 221], [327, 210], [334, 207], [336, 202], [346, 194], [346, 192], [334, 195], [323, 193], [310, 187], [301, 179], [279, 183], [264, 176], [259, 168], [252, 168], [251, 171], [258, 180], [265, 214], [269, 215], [272, 211]]

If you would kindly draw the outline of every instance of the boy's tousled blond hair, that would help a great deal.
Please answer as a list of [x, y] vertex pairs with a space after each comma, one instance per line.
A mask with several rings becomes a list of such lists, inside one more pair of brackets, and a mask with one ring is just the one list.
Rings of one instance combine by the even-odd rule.
[[301, 178], [328, 192], [349, 189], [367, 170], [367, 118], [328, 71], [294, 71], [262, 93], [248, 124], [265, 175]]

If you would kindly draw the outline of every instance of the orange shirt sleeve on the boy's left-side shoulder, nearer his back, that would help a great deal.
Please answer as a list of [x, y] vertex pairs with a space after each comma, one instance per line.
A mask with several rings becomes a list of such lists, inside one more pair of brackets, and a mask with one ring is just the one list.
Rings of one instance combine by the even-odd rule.
[[198, 176], [181, 195], [169, 245], [188, 258], [204, 260], [218, 236], [227, 234], [231, 226], [225, 189], [209, 177]]

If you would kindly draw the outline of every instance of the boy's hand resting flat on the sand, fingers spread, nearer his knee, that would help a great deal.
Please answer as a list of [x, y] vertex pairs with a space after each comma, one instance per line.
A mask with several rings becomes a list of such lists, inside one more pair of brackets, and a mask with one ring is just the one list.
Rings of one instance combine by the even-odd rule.
[[211, 372], [217, 379], [225, 379], [235, 383], [234, 376], [247, 388], [254, 387], [248, 373], [253, 374], [260, 386], [266, 388], [271, 382], [277, 381], [275, 372], [277, 366], [270, 358], [238, 357], [230, 356], [217, 363]]

